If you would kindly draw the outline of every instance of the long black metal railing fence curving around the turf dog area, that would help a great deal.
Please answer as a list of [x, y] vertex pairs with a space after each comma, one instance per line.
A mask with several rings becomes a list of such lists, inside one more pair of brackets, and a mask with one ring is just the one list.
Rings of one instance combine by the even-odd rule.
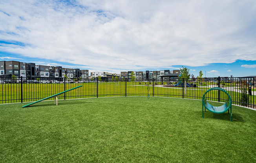
[[[0, 77], [0, 103], [37, 101], [53, 94], [83, 85], [66, 92], [59, 99], [99, 98], [113, 96], [159, 96], [201, 100], [212, 87], [225, 89], [235, 105], [256, 108], [255, 78], [162, 78], [162, 79], [79, 79], [62, 81], [54, 78], [5, 78]], [[210, 91], [207, 100], [225, 102], [226, 94]], [[53, 99], [49, 99], [53, 100]]]

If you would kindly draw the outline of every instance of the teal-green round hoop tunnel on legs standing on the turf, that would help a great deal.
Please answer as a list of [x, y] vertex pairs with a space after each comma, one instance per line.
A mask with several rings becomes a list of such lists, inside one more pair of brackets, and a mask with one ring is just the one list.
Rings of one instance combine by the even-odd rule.
[[[225, 103], [224, 105], [219, 106], [219, 107], [215, 107], [215, 106], [210, 105], [210, 104], [207, 102], [207, 100], [206, 100], [206, 94], [207, 94], [207, 92], [209, 92], [209, 91], [214, 91], [214, 90], [222, 91], [222, 92], [224, 92], [225, 94], [227, 94], [228, 99], [226, 100], [226, 103]], [[206, 109], [207, 109], [207, 110], [209, 110], [210, 112], [217, 113], [217, 114], [226, 112], [227, 110], [229, 111], [229, 109], [230, 109], [230, 122], [232, 121], [232, 100], [231, 100], [231, 97], [230, 97], [230, 95], [228, 94], [228, 92], [226, 92], [224, 89], [219, 88], [219, 87], [213, 87], [213, 88], [208, 89], [208, 90], [205, 92], [205, 94], [203, 94], [203, 97], [202, 97], [202, 118], [203, 118], [203, 108], [204, 108], [204, 107], [205, 107], [205, 112], [206, 112]]]

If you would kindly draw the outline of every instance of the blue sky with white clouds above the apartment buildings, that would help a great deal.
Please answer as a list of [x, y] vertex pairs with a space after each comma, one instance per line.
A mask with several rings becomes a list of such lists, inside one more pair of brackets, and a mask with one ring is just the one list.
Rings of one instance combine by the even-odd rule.
[[1, 0], [0, 60], [256, 75], [255, 0]]

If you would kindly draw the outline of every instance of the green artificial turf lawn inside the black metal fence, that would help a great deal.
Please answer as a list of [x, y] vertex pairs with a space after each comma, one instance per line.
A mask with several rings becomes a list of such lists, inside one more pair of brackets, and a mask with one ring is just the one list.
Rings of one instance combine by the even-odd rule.
[[89, 98], [0, 105], [0, 162], [256, 162], [256, 111], [201, 100]]

